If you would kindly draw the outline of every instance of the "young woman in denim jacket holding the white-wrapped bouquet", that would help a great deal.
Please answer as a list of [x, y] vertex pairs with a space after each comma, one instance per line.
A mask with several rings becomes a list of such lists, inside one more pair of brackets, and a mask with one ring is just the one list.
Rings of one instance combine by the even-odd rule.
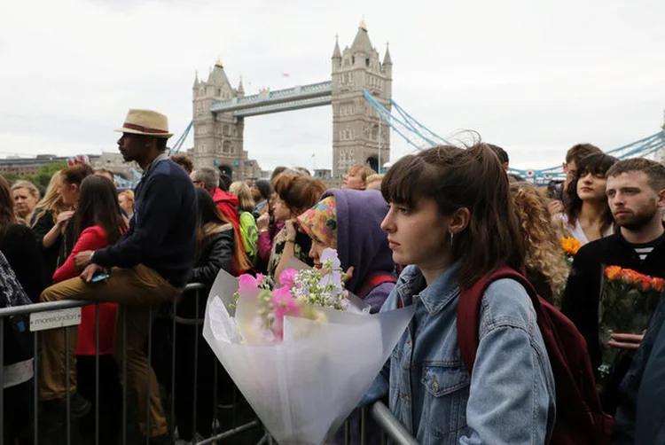
[[524, 264], [497, 156], [485, 144], [434, 147], [395, 162], [381, 191], [393, 259], [411, 264], [381, 311], [412, 305], [415, 315], [362, 403], [387, 395], [395, 417], [426, 445], [547, 443], [554, 379], [524, 287], [500, 279], [484, 293], [471, 373], [458, 345], [460, 290]]

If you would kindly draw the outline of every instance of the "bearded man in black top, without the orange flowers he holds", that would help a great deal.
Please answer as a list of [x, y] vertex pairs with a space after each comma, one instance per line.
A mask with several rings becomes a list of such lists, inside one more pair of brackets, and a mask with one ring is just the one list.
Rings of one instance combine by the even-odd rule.
[[[606, 194], [619, 230], [577, 252], [561, 307], [586, 339], [594, 371], [601, 361], [599, 296], [603, 267], [620, 266], [665, 277], [665, 229], [660, 211], [665, 206], [665, 167], [642, 158], [621, 160], [607, 171]], [[637, 349], [643, 337], [614, 333], [608, 345]], [[629, 366], [630, 360], [620, 363], [604, 386], [603, 405], [610, 414], [616, 409], [616, 387]]]

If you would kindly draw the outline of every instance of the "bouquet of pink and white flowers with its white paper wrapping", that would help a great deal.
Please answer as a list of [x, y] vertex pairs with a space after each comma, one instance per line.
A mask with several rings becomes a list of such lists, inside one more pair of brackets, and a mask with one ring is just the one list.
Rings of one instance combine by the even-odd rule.
[[344, 289], [334, 251], [322, 269], [266, 277], [221, 271], [203, 336], [280, 445], [320, 444], [356, 408], [413, 316], [370, 315]]

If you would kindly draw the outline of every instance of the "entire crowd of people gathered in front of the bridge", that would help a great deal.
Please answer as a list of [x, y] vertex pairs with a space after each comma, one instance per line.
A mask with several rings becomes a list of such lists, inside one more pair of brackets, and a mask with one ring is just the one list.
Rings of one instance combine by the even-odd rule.
[[[212, 371], [215, 355], [199, 320], [206, 299], [194, 300], [184, 286], [211, 286], [220, 270], [277, 277], [292, 259], [321, 267], [326, 247], [337, 250], [348, 291], [372, 313], [415, 306], [361, 405], [387, 397], [422, 444], [564, 443], [559, 403], [568, 388], [559, 387], [561, 370], [541, 330], [538, 301], [572, 322], [579, 332], [571, 337], [579, 339], [574, 349], [582, 351], [591, 378], [600, 379], [603, 270], [619, 266], [665, 278], [665, 167], [653, 160], [617, 160], [578, 144], [567, 152], [561, 188], [541, 190], [508, 174], [503, 148], [478, 142], [405, 156], [385, 176], [357, 165], [340, 189], [328, 189], [304, 168], [233, 182], [184, 155], [169, 158], [168, 120], [153, 111], [130, 110], [117, 131], [123, 159], [144, 171], [134, 191], [119, 192], [112, 172], [85, 163], [53, 175], [43, 195], [32, 183], [10, 185], [0, 176], [0, 252], [29, 301], [99, 303], [82, 308], [82, 323], [70, 335], [63, 329], [43, 335], [37, 381], [37, 351], [22, 351], [16, 328], [4, 324], [4, 406], [12, 406], [4, 410], [6, 443], [32, 443], [35, 385], [43, 428], [63, 422], [69, 392], [71, 418], [91, 441], [90, 407], [98, 397], [100, 441], [117, 443], [126, 386], [151, 443], [209, 437], [213, 388], [223, 398], [232, 382], [223, 370], [216, 377]], [[562, 238], [575, 239], [579, 251], [567, 253]], [[459, 317], [474, 286], [502, 268], [528, 285], [499, 278], [482, 291], [470, 367], [460, 351]], [[10, 306], [12, 297], [4, 298]], [[170, 371], [162, 373], [146, 354], [155, 319], [174, 301], [176, 376], [169, 377], [176, 381], [176, 437], [162, 403]], [[118, 334], [120, 314], [126, 336]], [[609, 340], [627, 353], [592, 396], [599, 414], [614, 416], [613, 443], [665, 441], [663, 323], [661, 301], [644, 332], [614, 332]], [[123, 364], [127, 381], [120, 378]], [[365, 443], [379, 443], [378, 425], [367, 422]], [[340, 431], [329, 443], [360, 443], [360, 424], [355, 411], [349, 436]], [[588, 443], [600, 443], [587, 433]]]

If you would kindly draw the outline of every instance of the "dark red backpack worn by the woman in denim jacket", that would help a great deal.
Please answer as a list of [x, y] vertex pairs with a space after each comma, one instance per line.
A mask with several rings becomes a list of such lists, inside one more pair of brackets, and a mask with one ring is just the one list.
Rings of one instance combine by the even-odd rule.
[[510, 278], [527, 291], [538, 327], [543, 334], [556, 384], [557, 418], [552, 445], [606, 445], [612, 435], [613, 420], [600, 405], [596, 381], [586, 341], [575, 324], [559, 309], [538, 296], [528, 279], [507, 267], [482, 277], [470, 289], [462, 291], [458, 304], [458, 342], [466, 369], [471, 373], [479, 344], [481, 301], [494, 281]]

